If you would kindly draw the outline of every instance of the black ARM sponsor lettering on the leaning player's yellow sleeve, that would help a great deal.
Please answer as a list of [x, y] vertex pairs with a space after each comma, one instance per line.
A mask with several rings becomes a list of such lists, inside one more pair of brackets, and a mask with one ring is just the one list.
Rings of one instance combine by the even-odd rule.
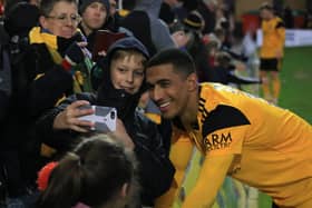
[[225, 149], [232, 143], [231, 132], [227, 133], [211, 133], [204, 139], [206, 151], [214, 149]]

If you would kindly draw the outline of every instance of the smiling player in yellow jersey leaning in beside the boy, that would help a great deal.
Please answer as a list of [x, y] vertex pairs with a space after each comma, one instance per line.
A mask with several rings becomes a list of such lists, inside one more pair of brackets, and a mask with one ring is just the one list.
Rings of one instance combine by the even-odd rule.
[[312, 207], [311, 125], [240, 90], [199, 85], [193, 59], [178, 49], [154, 56], [146, 80], [162, 116], [204, 156], [183, 208], [211, 207], [226, 176], [266, 192], [280, 207]]

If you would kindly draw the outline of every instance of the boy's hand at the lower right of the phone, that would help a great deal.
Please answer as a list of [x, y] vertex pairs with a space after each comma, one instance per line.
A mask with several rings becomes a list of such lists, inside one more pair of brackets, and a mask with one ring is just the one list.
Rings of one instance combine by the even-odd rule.
[[124, 122], [120, 119], [117, 119], [116, 121], [116, 131], [110, 132], [110, 135], [121, 141], [127, 148], [135, 148], [135, 143], [133, 142], [130, 136], [127, 133]]

